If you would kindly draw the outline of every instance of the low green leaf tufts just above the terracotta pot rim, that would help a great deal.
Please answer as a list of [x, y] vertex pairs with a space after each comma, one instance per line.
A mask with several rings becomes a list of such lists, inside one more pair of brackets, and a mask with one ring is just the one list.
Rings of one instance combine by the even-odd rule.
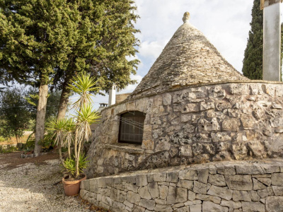
[[[83, 173], [83, 169], [87, 167], [88, 163], [89, 161], [86, 160], [86, 157], [84, 154], [79, 156], [79, 172], [80, 173]], [[64, 160], [63, 166], [64, 166], [64, 170], [69, 175], [69, 178], [76, 178], [75, 176], [76, 159], [74, 157], [67, 158], [66, 160]]]

